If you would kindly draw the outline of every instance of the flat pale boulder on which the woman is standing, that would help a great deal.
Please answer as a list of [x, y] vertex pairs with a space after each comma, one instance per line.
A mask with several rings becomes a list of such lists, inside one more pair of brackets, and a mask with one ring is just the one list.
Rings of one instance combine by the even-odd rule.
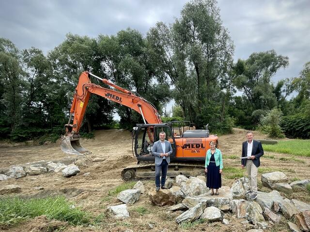
[[204, 193], [199, 196], [186, 197], [182, 203], [188, 208], [194, 207], [196, 204], [204, 202], [207, 206], [215, 206], [221, 208], [223, 205], [229, 205], [229, 202], [233, 200], [232, 193], [228, 186], [222, 186], [219, 189], [219, 195], [209, 196], [209, 193]]

